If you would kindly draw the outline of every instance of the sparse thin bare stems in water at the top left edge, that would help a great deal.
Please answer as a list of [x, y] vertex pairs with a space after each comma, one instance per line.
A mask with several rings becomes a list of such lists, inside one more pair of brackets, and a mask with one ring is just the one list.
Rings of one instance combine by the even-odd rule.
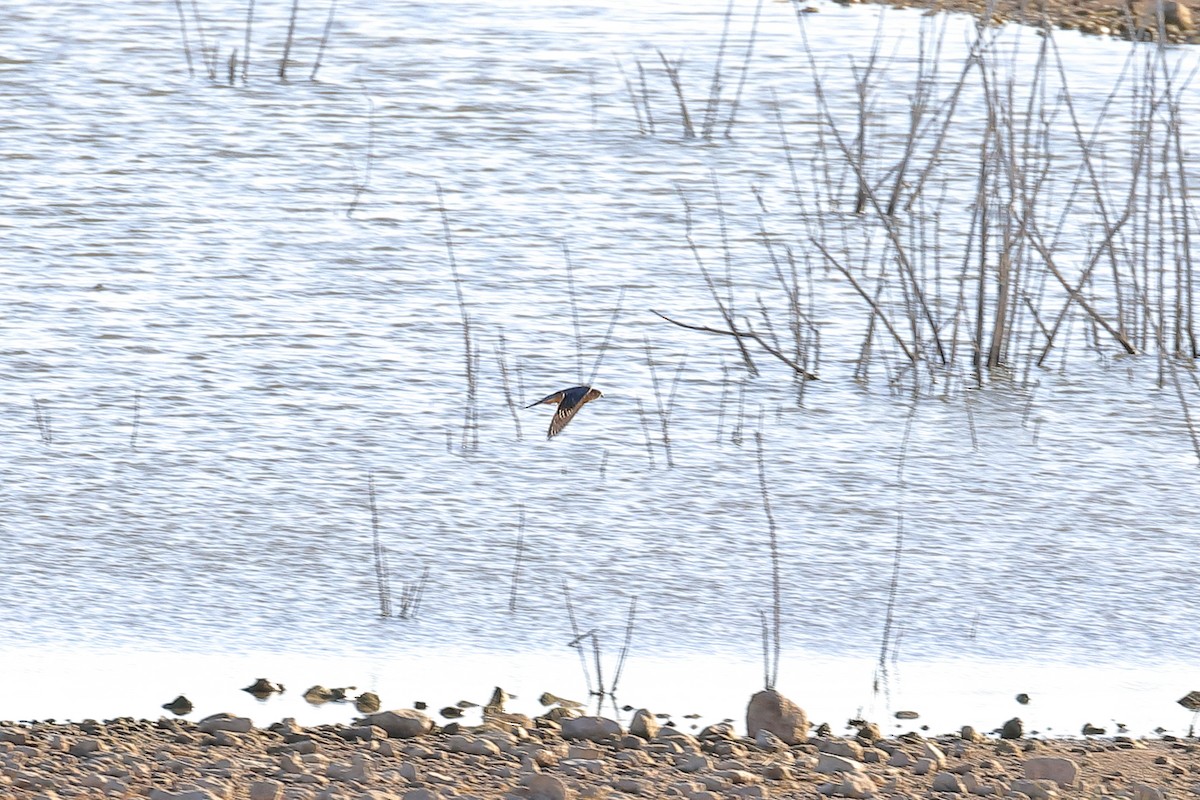
[[[198, 0], [191, 0], [190, 5], [191, 13], [188, 13], [188, 10], [184, 7], [184, 0], [175, 0], [175, 11], [179, 14], [179, 30], [184, 44], [184, 58], [187, 59], [187, 76], [190, 78], [196, 77], [196, 62], [192, 58], [192, 36], [194, 35], [197, 46], [199, 47], [200, 62], [204, 66], [204, 72], [209, 80], [217, 83], [223, 72], [224, 80], [230, 86], [239, 79], [242, 85], [246, 85], [246, 80], [250, 74], [251, 34], [254, 29], [254, 0], [247, 0], [246, 4], [246, 23], [244, 28], [241, 53], [239, 54], [238, 48], [234, 47], [229, 50], [229, 55], [227, 58], [223, 58], [221, 54], [221, 42], [218, 37], [211, 32], [211, 29], [206, 30], [204, 18], [200, 14]], [[320, 61], [324, 58], [325, 48], [329, 44], [329, 35], [334, 28], [334, 12], [336, 10], [337, 0], [330, 0], [329, 12], [325, 16], [325, 25], [322, 30], [320, 42], [317, 44], [317, 53], [313, 56], [312, 71], [308, 73], [310, 80], [316, 80], [317, 72], [320, 71]], [[299, 13], [300, 0], [292, 0], [292, 13], [288, 16], [288, 32], [283, 40], [283, 52], [280, 55], [280, 62], [276, 70], [276, 74], [281, 82], [287, 82], [288, 67], [293, 64], [289, 59], [292, 55], [292, 46], [295, 40], [296, 17]], [[191, 25], [188, 25], [188, 17], [191, 17]]]

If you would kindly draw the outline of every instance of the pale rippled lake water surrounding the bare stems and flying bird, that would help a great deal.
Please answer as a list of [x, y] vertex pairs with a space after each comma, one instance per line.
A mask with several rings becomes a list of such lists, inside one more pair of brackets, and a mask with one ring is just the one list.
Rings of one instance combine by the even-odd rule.
[[[1200, 471], [1153, 356], [1097, 355], [1079, 323], [1069, 361], [1010, 381], [913, 393], [886, 366], [858, 381], [868, 309], [822, 266], [821, 380], [798, 404], [769, 356], [748, 377], [728, 337], [649, 311], [724, 326], [680, 196], [719, 291], [727, 275], [739, 314], [756, 295], [780, 308], [761, 228], [812, 264], [820, 215], [787, 213], [775, 103], [812, 207], [852, 194], [845, 169], [817, 182], [833, 145], [811, 67], [850, 125], [881, 31], [875, 126], [894, 148], [920, 31], [942, 37], [944, 86], [970, 20], [821, 5], [800, 23], [764, 4], [726, 138], [749, 4], [722, 53], [724, 2], [343, 2], [317, 80], [328, 7], [304, 5], [289, 80], [290, 4], [259, 2], [233, 85], [245, 6], [198, 6], [216, 79], [191, 10], [191, 78], [170, 4], [0, 10], [0, 662], [22, 687], [5, 716], [154, 717], [178, 693], [197, 716], [353, 716], [304, 704], [312, 684], [432, 708], [503, 685], [535, 710], [542, 691], [588, 691], [565, 583], [610, 685], [636, 599], [622, 704], [739, 717], [772, 607], [761, 429], [779, 687], [816, 720], [1186, 730]], [[1091, 119], [1130, 46], [1056, 41]], [[1038, 42], [1009, 28], [995, 47], [1015, 72]], [[683, 137], [656, 48], [697, 128], [721, 59], [710, 140]], [[1166, 58], [1187, 73], [1196, 56]], [[947, 161], [972, 163], [970, 146], [952, 136]], [[846, 241], [852, 215], [826, 215]], [[956, 258], [965, 227], [931, 224], [930, 260]], [[673, 391], [670, 452], [647, 347], [664, 403]], [[551, 409], [521, 407], [593, 372], [605, 397], [547, 441]], [[414, 619], [379, 616], [368, 475], [394, 603], [428, 570]], [[259, 675], [288, 694], [236, 691]]]

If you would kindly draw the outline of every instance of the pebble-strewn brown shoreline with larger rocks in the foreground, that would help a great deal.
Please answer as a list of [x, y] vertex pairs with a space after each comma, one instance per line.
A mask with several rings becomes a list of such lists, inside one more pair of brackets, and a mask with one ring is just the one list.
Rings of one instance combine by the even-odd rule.
[[[1012, 721], [1015, 722], [1015, 721]], [[1018, 726], [1019, 727], [1019, 726]], [[588, 800], [592, 798], [1128, 798], [1200, 795], [1195, 739], [984, 738], [858, 723], [809, 730], [774, 692], [750, 703], [746, 730], [697, 734], [637, 711], [629, 728], [575, 708], [529, 718], [493, 708], [481, 726], [437, 727], [414, 709], [355, 724], [256, 728], [217, 714], [199, 722], [0, 723], [0, 798], [151, 800]], [[1004, 735], [1020, 730], [1009, 727]]]

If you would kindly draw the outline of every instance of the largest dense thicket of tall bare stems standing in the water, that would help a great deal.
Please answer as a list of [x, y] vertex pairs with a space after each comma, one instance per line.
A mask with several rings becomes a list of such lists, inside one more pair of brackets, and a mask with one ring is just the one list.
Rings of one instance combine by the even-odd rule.
[[[680, 198], [718, 321], [655, 313], [731, 337], [749, 377], [763, 357], [781, 362], [803, 392], [818, 374], [817, 309], [830, 295], [811, 278], [823, 267], [845, 287], [834, 296], [848, 290], [864, 311], [854, 371], [864, 384], [882, 372], [888, 386], [916, 393], [996, 379], [1027, 386], [1038, 368], [1064, 369], [1080, 353], [1147, 354], [1158, 384], [1176, 389], [1200, 455], [1184, 391], [1200, 381], [1181, 369], [1200, 354], [1182, 112], [1195, 71], [1162, 46], [1133, 44], [1108, 96], [1085, 110], [1048, 25], [1036, 44], [1014, 48], [980, 24], [965, 59], [952, 61], [946, 20], [926, 18], [911, 91], [895, 92], [883, 89], [899, 67], [882, 22], [870, 52], [847, 56], [850, 79], [835, 80], [808, 42], [805, 16], [797, 19], [818, 125], [804, 149], [793, 145], [791, 112], [775, 100], [791, 197], [769, 210], [751, 187], [760, 221], [770, 219], [757, 240], [778, 295], [738, 299], [714, 176], [719, 247], [697, 243], [697, 204]], [[968, 102], [983, 114], [965, 115]], [[712, 253], [725, 259], [724, 276], [706, 263]]]

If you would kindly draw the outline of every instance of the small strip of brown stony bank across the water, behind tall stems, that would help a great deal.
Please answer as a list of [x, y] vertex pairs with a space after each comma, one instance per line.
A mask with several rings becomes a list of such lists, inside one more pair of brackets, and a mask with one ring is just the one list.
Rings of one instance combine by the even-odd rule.
[[[860, 0], [835, 0], [852, 5]], [[1048, 24], [1062, 30], [1078, 30], [1092, 36], [1112, 36], [1130, 41], [1172, 44], [1200, 44], [1198, 14], [1176, 0], [1164, 0], [1163, 25], [1159, 26], [1157, 0], [870, 0], [894, 8], [952, 11], [978, 18], [990, 17], [994, 24]]]

